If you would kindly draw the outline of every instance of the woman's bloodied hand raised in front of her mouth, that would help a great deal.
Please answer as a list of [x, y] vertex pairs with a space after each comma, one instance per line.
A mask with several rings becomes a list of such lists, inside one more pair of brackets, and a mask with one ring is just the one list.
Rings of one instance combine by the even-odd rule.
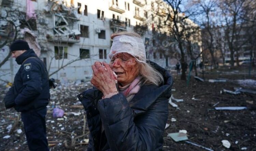
[[111, 70], [108, 63], [96, 61], [92, 65], [93, 78], [91, 79], [91, 84], [93, 84], [97, 89], [99, 89], [103, 95], [107, 95], [113, 92], [117, 92], [115, 85], [115, 76]]

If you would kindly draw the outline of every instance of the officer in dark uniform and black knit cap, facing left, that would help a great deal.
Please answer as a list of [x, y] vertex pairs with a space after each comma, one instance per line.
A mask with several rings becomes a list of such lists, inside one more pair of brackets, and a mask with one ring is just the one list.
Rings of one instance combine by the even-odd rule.
[[48, 73], [26, 41], [16, 40], [11, 46], [12, 57], [20, 64], [13, 87], [5, 100], [12, 100], [17, 112], [21, 112], [30, 151], [49, 151], [46, 139], [45, 115], [49, 102]]

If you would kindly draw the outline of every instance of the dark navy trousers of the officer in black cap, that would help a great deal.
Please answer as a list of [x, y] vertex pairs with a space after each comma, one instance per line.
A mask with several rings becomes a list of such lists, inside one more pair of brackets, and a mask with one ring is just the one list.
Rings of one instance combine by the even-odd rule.
[[30, 151], [49, 151], [46, 139], [46, 108], [34, 112], [22, 112], [28, 148]]

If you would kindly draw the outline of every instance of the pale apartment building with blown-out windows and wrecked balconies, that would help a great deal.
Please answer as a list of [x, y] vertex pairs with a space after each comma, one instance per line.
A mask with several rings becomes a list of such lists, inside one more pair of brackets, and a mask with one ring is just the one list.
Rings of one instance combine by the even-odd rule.
[[[167, 67], [168, 56], [152, 49], [152, 3], [153, 0], [0, 0], [1, 16], [13, 10], [16, 14], [12, 16], [15, 29], [8, 21], [1, 21], [0, 41], [10, 38], [8, 31], [13, 30], [11, 35], [17, 31], [16, 39], [29, 43], [51, 77], [86, 80], [92, 76], [91, 65], [95, 61], [110, 61], [110, 35], [134, 31], [145, 42], [147, 58]], [[6, 45], [0, 51], [3, 60], [9, 48]], [[12, 81], [18, 68], [10, 57], [1, 67], [1, 79]]]

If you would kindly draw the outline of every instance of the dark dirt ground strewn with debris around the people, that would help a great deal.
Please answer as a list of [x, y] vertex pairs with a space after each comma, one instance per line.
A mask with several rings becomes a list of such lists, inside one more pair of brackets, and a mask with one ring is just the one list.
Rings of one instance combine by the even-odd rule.
[[[202, 77], [201, 72], [198, 72]], [[172, 72], [174, 84], [172, 94], [177, 99], [178, 107], [169, 105], [170, 126], [164, 133], [163, 150], [165, 151], [200, 151], [206, 150], [186, 141], [175, 142], [168, 133], [186, 130], [188, 141], [215, 151], [256, 150], [256, 94], [240, 93], [237, 95], [224, 93], [223, 89], [234, 91], [234, 87], [242, 87], [256, 91], [256, 84], [241, 85], [237, 79], [256, 80], [256, 71], [248, 76], [247, 68], [221, 68], [204, 72], [205, 82], [193, 77], [187, 81], [180, 80], [180, 75]], [[209, 79], [226, 78], [227, 82], [208, 82]], [[76, 95], [90, 87], [89, 83], [77, 82], [59, 85], [51, 90], [52, 101], [48, 105], [46, 116], [47, 136], [51, 151], [85, 150], [88, 141], [88, 128], [85, 112]], [[3, 97], [7, 89], [0, 87], [0, 151], [28, 150], [22, 121], [14, 109], [5, 111]], [[197, 100], [193, 100], [192, 98]], [[54, 118], [53, 108], [65, 111], [62, 119]], [[214, 107], [248, 107], [245, 110], [215, 110]], [[171, 119], [175, 118], [176, 121]], [[10, 126], [11, 125], [11, 126]], [[22, 130], [21, 133], [20, 130]], [[3, 138], [9, 135], [9, 138]], [[228, 140], [229, 149], [222, 145]]]

